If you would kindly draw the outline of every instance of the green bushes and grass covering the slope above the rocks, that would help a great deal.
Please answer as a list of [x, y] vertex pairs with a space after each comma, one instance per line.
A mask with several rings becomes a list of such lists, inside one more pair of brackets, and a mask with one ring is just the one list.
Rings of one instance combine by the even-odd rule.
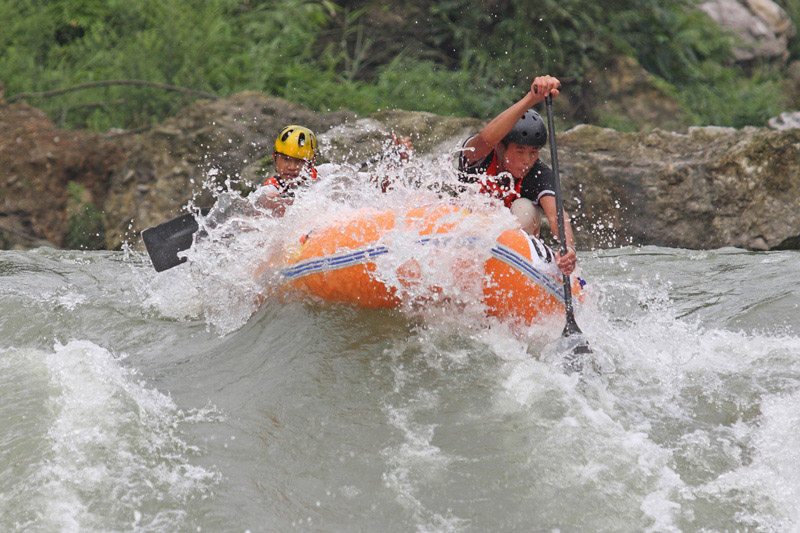
[[[626, 54], [698, 124], [762, 124], [785, 110], [779, 74], [727, 66], [731, 38], [692, 2], [0, 0], [0, 80], [7, 96], [138, 79], [219, 96], [260, 90], [317, 110], [488, 117], [533, 74], [580, 86]], [[796, 2], [782, 3], [798, 20]], [[800, 58], [800, 40], [792, 46]], [[103, 131], [163, 120], [193, 98], [123, 85], [29, 101]]]

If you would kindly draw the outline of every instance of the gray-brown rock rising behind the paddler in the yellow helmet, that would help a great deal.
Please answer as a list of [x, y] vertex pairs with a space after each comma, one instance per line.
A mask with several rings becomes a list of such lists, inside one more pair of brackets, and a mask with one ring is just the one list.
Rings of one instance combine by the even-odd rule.
[[[178, 117], [140, 136], [114, 171], [104, 205], [106, 244], [141, 248], [142, 230], [180, 214], [193, 201], [211, 205], [204, 181], [247, 191], [261, 181], [262, 158], [287, 124], [302, 124], [320, 140], [319, 163], [355, 164], [381, 152], [391, 135], [411, 136], [421, 154], [477, 131], [474, 119], [384, 111], [359, 119], [349, 112], [315, 114], [255, 92], [196, 102]], [[212, 177], [211, 180], [208, 178]]]

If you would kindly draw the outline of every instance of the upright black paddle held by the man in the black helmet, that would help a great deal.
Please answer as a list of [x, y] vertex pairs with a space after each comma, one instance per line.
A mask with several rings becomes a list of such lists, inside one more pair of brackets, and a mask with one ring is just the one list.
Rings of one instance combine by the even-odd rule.
[[[550, 159], [552, 160], [553, 164], [553, 174], [555, 175], [555, 193], [556, 193], [556, 210], [557, 210], [557, 220], [558, 220], [558, 238], [559, 238], [559, 249], [561, 255], [564, 256], [567, 253], [567, 237], [564, 233], [564, 201], [561, 197], [561, 180], [558, 176], [558, 154], [556, 153], [556, 131], [555, 126], [553, 125], [553, 99], [549, 95], [544, 99], [545, 106], [547, 107], [547, 133], [550, 137]], [[571, 358], [568, 358], [568, 362], [570, 366], [574, 370], [580, 370], [583, 367], [583, 361], [579, 359], [578, 356], [590, 354], [592, 353], [591, 348], [589, 348], [589, 343], [583, 337], [583, 332], [581, 328], [578, 327], [578, 323], [575, 322], [575, 313], [572, 308], [572, 286], [570, 283], [570, 277], [566, 274], [563, 275], [564, 278], [564, 309], [567, 313], [567, 324], [564, 326], [564, 331], [561, 333], [562, 337], [566, 337], [570, 339], [570, 344], [572, 347], [572, 354]], [[566, 351], [566, 350], [565, 350]]]

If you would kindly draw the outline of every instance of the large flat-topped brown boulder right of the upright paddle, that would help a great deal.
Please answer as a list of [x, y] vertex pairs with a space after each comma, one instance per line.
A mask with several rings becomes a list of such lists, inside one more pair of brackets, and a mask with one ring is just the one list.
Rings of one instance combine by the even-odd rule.
[[559, 147], [582, 247], [800, 247], [800, 130], [579, 126]]

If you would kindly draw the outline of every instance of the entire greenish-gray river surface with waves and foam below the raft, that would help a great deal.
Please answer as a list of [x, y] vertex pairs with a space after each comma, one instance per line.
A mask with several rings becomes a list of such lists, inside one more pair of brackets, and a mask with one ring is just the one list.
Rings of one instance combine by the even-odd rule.
[[560, 316], [0, 252], [0, 530], [800, 530], [800, 253], [580, 258], [577, 374]]

